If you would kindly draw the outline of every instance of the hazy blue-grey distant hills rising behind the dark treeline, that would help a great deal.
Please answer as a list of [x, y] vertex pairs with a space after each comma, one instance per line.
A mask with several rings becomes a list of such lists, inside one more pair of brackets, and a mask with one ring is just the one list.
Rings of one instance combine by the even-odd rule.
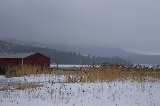
[[125, 51], [120, 48], [114, 47], [86, 47], [86, 46], [74, 46], [74, 45], [60, 45], [60, 44], [46, 44], [46, 43], [35, 43], [28, 41], [21, 41], [17, 39], [3, 39], [4, 41], [11, 42], [13, 44], [27, 45], [33, 47], [47, 47], [56, 49], [63, 52], [76, 52], [84, 56], [101, 56], [101, 57], [114, 57], [118, 56], [120, 58], [131, 61], [133, 64], [156, 64], [160, 65], [160, 55], [146, 55], [139, 53], [132, 53]]

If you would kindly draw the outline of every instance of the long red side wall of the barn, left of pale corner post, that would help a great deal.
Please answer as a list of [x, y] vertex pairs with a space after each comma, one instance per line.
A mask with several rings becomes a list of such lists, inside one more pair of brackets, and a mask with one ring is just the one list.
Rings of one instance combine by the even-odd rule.
[[22, 64], [19, 58], [0, 58], [0, 66], [18, 66]]

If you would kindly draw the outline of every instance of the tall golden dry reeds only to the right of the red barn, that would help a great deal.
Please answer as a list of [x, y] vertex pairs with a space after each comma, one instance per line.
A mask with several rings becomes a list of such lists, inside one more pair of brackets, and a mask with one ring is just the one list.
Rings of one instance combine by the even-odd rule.
[[80, 71], [54, 71], [52, 74], [68, 76], [67, 82], [110, 82], [134, 80], [138, 82], [160, 80], [159, 69], [104, 66]]

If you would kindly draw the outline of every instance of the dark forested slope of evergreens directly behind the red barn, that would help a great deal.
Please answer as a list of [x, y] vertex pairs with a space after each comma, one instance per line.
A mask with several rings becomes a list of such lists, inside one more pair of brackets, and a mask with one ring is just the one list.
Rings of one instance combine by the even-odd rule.
[[83, 56], [80, 53], [75, 52], [62, 52], [48, 47], [31, 47], [26, 45], [12, 44], [5, 41], [0, 41], [0, 53], [42, 53], [51, 58], [51, 63], [58, 64], [131, 64], [130, 61], [119, 57], [95, 57], [95, 56]]

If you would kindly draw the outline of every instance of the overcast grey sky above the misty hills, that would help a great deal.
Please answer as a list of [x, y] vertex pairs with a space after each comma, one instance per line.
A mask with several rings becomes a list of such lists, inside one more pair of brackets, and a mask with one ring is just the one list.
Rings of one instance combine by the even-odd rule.
[[0, 37], [160, 55], [160, 0], [0, 0]]

